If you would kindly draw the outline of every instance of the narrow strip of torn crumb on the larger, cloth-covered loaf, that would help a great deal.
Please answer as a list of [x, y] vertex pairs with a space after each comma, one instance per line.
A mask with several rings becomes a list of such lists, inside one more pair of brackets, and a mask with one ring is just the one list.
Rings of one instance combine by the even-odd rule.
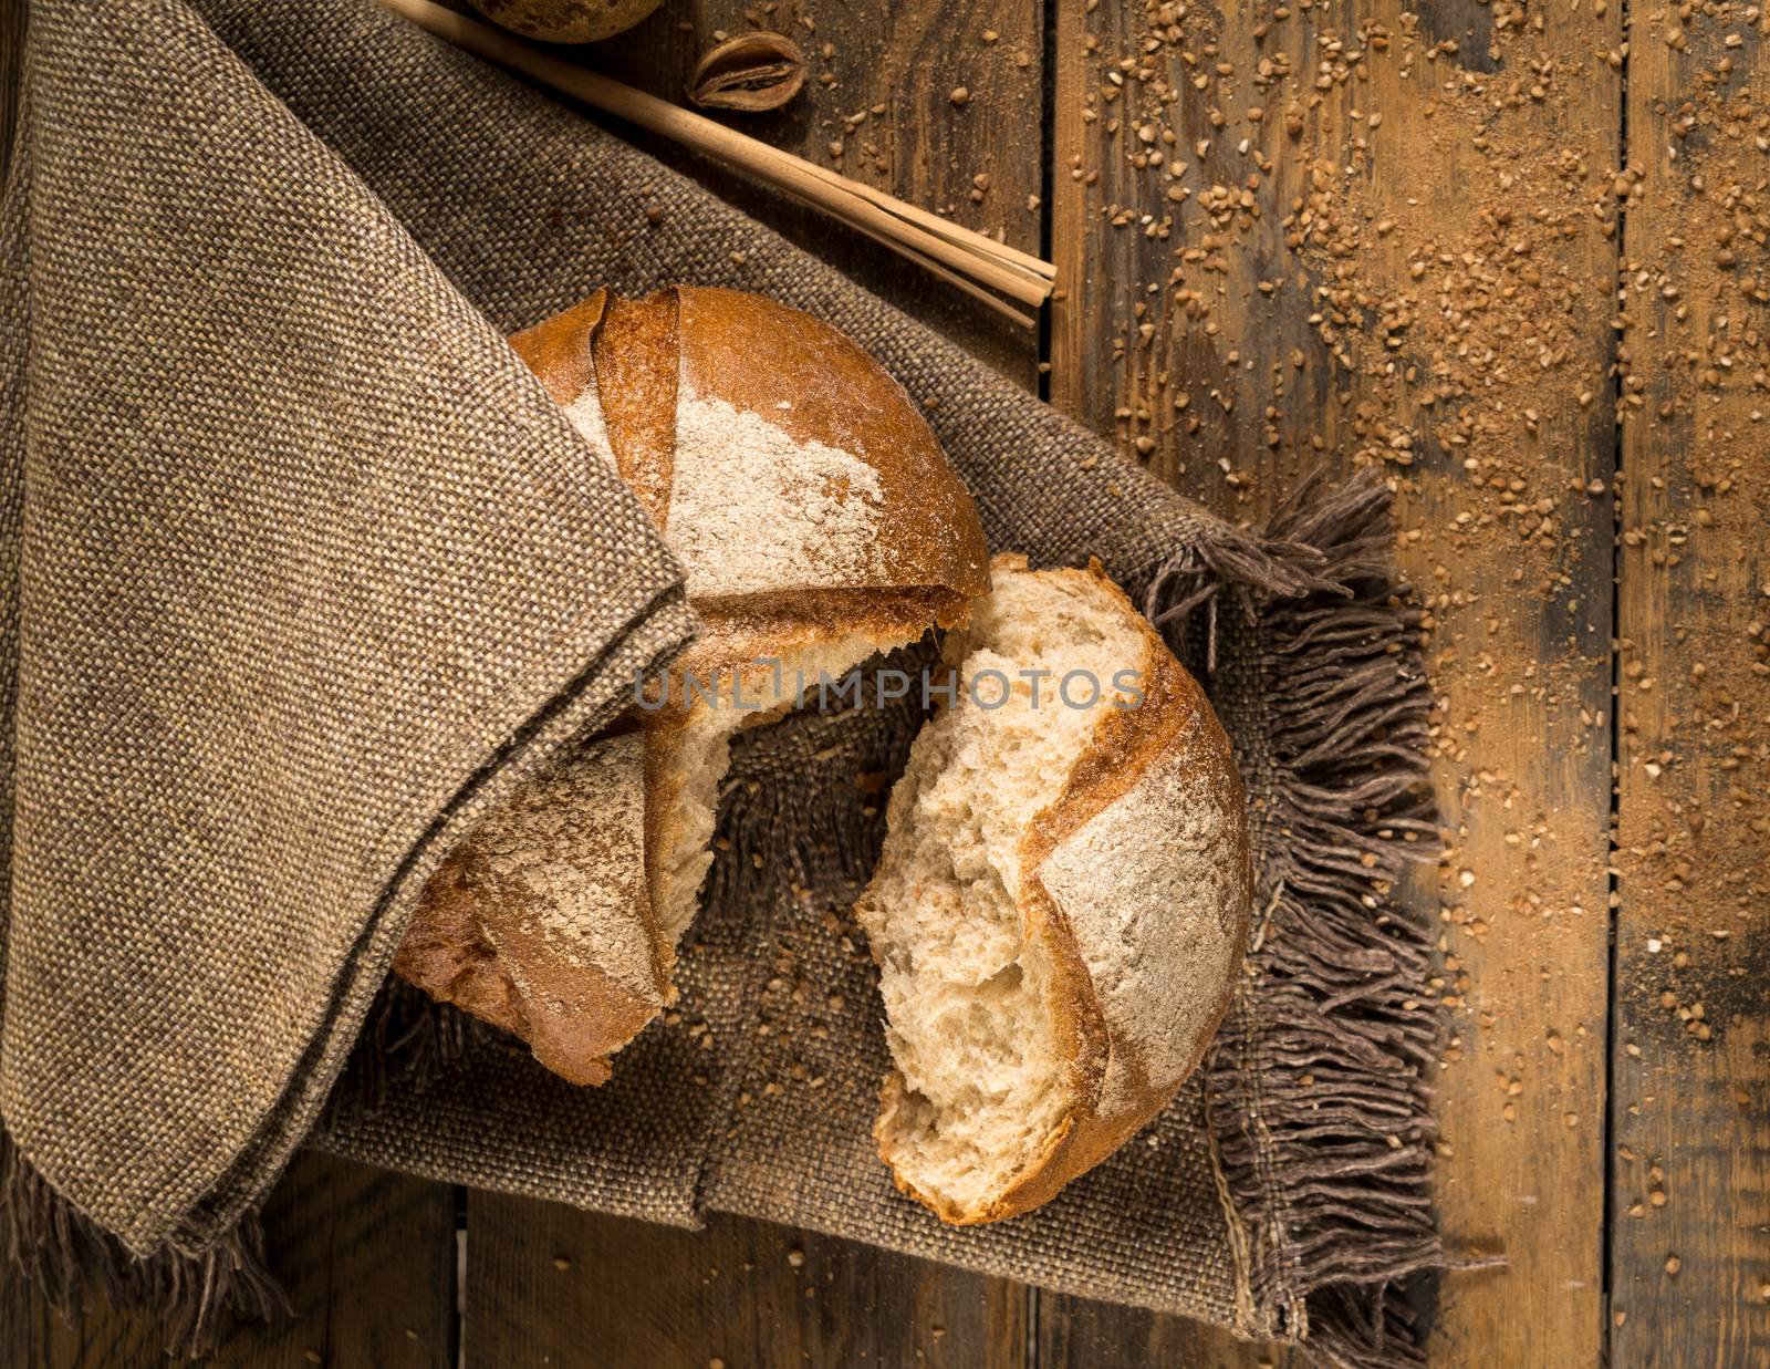
[[713, 685], [713, 698], [696, 692], [681, 726], [655, 737], [653, 797], [664, 813], [657, 825], [651, 900], [669, 944], [678, 944], [694, 921], [701, 886], [713, 866], [719, 786], [731, 767], [733, 733], [793, 708], [800, 689], [807, 700], [816, 700], [820, 678], [834, 685], [876, 652], [904, 646], [919, 636], [920, 629], [848, 632], [779, 650], [779, 666], [745, 662], [735, 668], [742, 671], [743, 708], [731, 692], [733, 669], [710, 671], [704, 684]]

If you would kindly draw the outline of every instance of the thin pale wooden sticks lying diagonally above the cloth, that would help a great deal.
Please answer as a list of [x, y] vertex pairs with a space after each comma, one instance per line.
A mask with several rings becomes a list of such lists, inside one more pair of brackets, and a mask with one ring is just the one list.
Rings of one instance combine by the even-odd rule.
[[1051, 294], [1057, 269], [984, 234], [896, 200], [811, 161], [683, 110], [669, 101], [634, 90], [616, 80], [542, 51], [520, 39], [430, 0], [381, 0], [419, 28], [466, 51], [529, 76], [586, 104], [671, 138], [696, 152], [736, 166], [758, 181], [782, 189], [873, 237], [942, 280], [972, 296], [988, 296], [998, 312], [1030, 326], [1035, 319], [1012, 310], [989, 292], [1005, 294], [1037, 308]]

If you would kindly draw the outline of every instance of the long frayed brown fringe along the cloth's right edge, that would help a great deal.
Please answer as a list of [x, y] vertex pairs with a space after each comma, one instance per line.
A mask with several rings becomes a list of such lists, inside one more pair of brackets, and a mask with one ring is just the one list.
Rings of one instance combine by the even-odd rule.
[[1255, 593], [1241, 622], [1220, 623], [1223, 576], [1195, 556], [1165, 568], [1145, 604], [1175, 650], [1214, 666], [1221, 627], [1230, 666], [1260, 677], [1255, 747], [1237, 737], [1250, 793], [1264, 795], [1255, 933], [1205, 1061], [1246, 1330], [1326, 1364], [1421, 1365], [1425, 1326], [1404, 1284], [1451, 1263], [1432, 1210], [1441, 1015], [1421, 997], [1437, 930], [1391, 900], [1439, 838], [1421, 611], [1393, 565], [1375, 471], [1303, 482], [1262, 545], [1301, 551], [1317, 583]]

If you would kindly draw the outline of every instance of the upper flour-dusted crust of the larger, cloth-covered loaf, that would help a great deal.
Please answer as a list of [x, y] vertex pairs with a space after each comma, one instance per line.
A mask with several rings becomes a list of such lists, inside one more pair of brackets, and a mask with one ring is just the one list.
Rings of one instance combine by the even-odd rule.
[[834, 328], [678, 285], [598, 290], [510, 342], [639, 494], [703, 616], [904, 588], [958, 613], [988, 588], [970, 492], [903, 386]]

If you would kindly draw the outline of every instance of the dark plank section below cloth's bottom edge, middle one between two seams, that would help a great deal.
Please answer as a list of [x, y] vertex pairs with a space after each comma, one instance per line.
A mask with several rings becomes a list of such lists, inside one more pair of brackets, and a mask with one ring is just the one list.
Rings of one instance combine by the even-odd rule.
[[676, 1231], [467, 1199], [469, 1369], [517, 1364], [1016, 1369], [1020, 1284], [715, 1217]]

